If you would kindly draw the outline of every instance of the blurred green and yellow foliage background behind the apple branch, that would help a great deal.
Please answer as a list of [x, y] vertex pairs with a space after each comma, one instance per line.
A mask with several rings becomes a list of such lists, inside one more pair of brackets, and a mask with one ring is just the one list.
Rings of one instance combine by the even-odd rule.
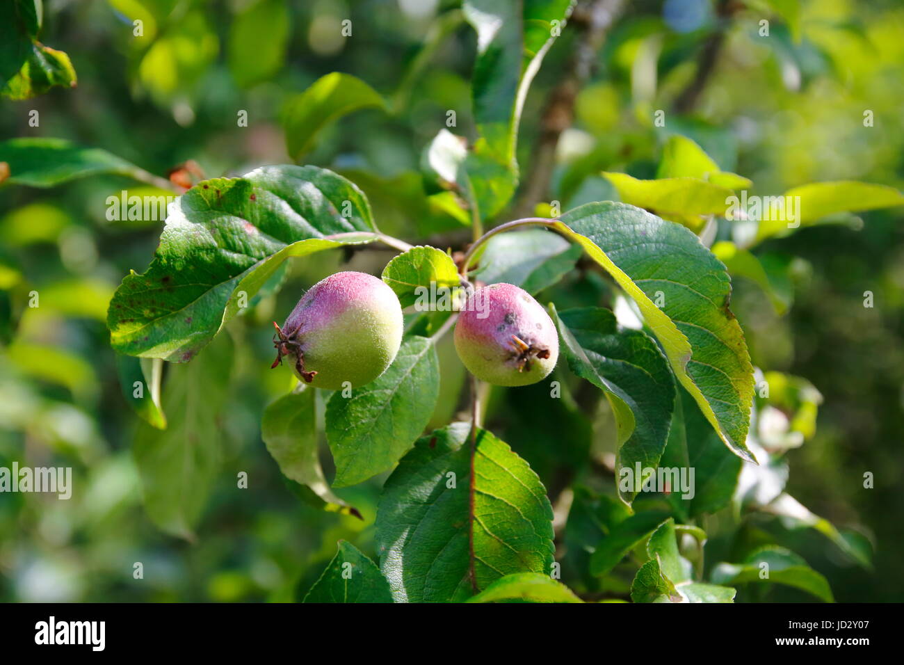
[[[899, 2], [607, 5], [615, 20], [591, 51], [573, 119], [551, 144], [544, 141], [550, 100], [573, 71], [578, 22], [543, 62], [523, 114], [515, 207], [524, 196], [528, 205], [559, 200], [562, 210], [613, 198], [598, 173], [654, 177], [673, 133], [751, 178], [753, 194], [847, 179], [904, 188]], [[142, 36], [133, 34], [136, 19]], [[345, 19], [351, 37], [341, 35]], [[326, 128], [304, 162], [362, 186], [386, 233], [454, 249], [470, 238], [466, 220], [426, 203], [420, 175], [423, 149], [445, 126], [447, 109], [457, 112], [457, 134], [476, 136], [469, 86], [476, 38], [456, 3], [45, 0], [41, 38], [69, 53], [79, 85], [0, 102], [0, 139], [69, 138], [158, 176], [186, 160], [206, 176], [237, 176], [291, 163], [281, 125], [287, 104], [325, 73], [349, 72], [389, 108]], [[38, 127], [29, 124], [33, 109]], [[656, 109], [667, 109], [664, 128], [651, 121]], [[240, 110], [248, 127], [237, 126]], [[546, 164], [548, 185], [530, 200], [525, 190], [543, 184], [538, 169]], [[0, 495], [0, 600], [292, 600], [320, 574], [338, 538], [373, 555], [384, 477], [337, 492], [363, 520], [309, 507], [282, 479], [259, 434], [265, 404], [290, 387], [287, 372], [268, 369], [269, 321], [284, 318], [302, 289], [343, 261], [376, 272], [391, 254], [326, 252], [293, 264], [278, 297], [260, 299], [231, 328], [228, 408], [212, 432], [220, 470], [194, 533], [174, 537], [142, 506], [131, 445], [146, 425], [122, 396], [105, 325], [113, 291], [127, 271], [146, 269], [163, 228], [159, 220], [108, 221], [107, 198], [123, 189], [153, 192], [117, 176], [0, 189], [0, 466], [72, 467], [76, 487], [68, 501]], [[787, 490], [869, 539], [874, 570], [853, 565], [813, 530], [786, 538], [826, 575], [837, 600], [899, 601], [904, 224], [900, 208], [835, 222], [756, 247], [764, 263], [789, 267], [786, 314], [743, 279], [735, 280], [732, 309], [756, 366], [804, 376], [823, 395], [815, 434], [787, 452]], [[560, 290], [567, 297], [580, 288], [566, 281]], [[40, 308], [23, 307], [30, 290], [40, 293]], [[867, 290], [872, 308], [863, 306]], [[449, 340], [440, 348], [438, 425], [461, 408], [464, 375]], [[504, 423], [504, 413], [498, 419]], [[331, 477], [328, 453], [324, 464]], [[236, 489], [240, 471], [249, 474], [248, 489]], [[874, 489], [863, 488], [867, 471]], [[140, 581], [136, 562], [144, 565]]]

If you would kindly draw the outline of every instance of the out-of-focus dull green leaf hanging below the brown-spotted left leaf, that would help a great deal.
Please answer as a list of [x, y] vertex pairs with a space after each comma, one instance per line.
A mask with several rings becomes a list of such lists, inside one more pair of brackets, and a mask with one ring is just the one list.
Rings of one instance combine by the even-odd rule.
[[220, 478], [221, 412], [230, 389], [232, 341], [222, 335], [196, 362], [169, 366], [163, 431], [139, 423], [133, 454], [148, 517], [174, 536], [193, 539], [214, 483]]

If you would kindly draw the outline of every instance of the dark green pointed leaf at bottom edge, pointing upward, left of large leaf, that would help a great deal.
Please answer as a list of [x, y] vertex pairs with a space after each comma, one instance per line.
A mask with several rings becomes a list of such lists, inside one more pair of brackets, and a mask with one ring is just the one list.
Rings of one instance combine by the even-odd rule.
[[[313, 392], [313, 391], [311, 391]], [[380, 569], [352, 544], [340, 540], [339, 551], [302, 603], [391, 603], [389, 584]]]

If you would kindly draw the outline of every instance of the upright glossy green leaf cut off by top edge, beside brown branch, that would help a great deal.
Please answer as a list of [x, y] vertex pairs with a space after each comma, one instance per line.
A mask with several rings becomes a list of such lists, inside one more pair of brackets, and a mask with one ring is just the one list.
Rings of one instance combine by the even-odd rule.
[[514, 163], [524, 98], [543, 56], [561, 29], [571, 0], [466, 0], [465, 18], [477, 33], [477, 59], [471, 79], [477, 128], [488, 151]]

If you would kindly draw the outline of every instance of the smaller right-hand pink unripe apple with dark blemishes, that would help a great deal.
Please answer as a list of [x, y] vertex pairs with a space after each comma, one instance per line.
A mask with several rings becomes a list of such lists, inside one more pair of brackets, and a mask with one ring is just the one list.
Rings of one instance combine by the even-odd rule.
[[475, 290], [458, 315], [455, 347], [467, 370], [494, 385], [530, 385], [550, 374], [559, 335], [550, 315], [513, 284]]

